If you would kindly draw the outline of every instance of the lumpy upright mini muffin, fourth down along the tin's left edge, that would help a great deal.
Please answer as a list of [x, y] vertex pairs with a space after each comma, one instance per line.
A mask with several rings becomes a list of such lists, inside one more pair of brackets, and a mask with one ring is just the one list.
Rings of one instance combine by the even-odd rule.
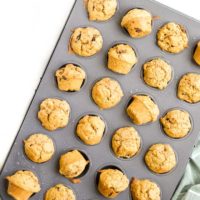
[[69, 121], [70, 107], [64, 100], [45, 99], [40, 104], [38, 119], [42, 126], [49, 131], [64, 128]]

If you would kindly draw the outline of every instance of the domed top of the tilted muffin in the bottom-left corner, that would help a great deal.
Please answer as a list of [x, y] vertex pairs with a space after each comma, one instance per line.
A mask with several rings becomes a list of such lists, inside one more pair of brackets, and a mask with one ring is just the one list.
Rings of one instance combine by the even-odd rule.
[[33, 193], [40, 191], [39, 180], [31, 171], [17, 171], [12, 176], [7, 176], [6, 179], [25, 191]]

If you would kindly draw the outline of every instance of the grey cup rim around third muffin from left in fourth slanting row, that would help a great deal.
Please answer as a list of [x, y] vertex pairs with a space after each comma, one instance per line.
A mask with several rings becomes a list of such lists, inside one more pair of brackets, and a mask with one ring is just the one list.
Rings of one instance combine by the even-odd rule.
[[[133, 128], [137, 131], [138, 136], [140, 137], [140, 148], [139, 148], [138, 152], [137, 152], [134, 156], [132, 156], [132, 157], [130, 157], [130, 158], [118, 157], [118, 156], [115, 154], [115, 152], [113, 151], [113, 148], [112, 148], [112, 138], [113, 138], [113, 136], [115, 135], [115, 132], [116, 132], [118, 129], [120, 129], [120, 128], [125, 128], [125, 127], [133, 127]], [[143, 148], [143, 138], [142, 138], [142, 136], [140, 135], [140, 133], [138, 132], [138, 130], [137, 130], [134, 126], [124, 126], [124, 127], [119, 127], [118, 129], [116, 129], [116, 130], [112, 133], [111, 138], [110, 138], [110, 152], [111, 152], [111, 154], [114, 156], [114, 158], [119, 159], [119, 160], [121, 160], [121, 161], [123, 161], [123, 162], [129, 162], [129, 161], [132, 161], [132, 160], [136, 159], [136, 158], [140, 155], [141, 150], [142, 150], [142, 148]]]

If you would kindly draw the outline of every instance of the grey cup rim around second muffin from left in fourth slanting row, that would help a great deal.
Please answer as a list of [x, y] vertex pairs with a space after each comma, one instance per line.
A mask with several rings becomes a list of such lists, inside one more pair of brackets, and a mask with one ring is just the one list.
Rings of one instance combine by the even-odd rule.
[[[102, 121], [104, 122], [104, 124], [105, 124], [105, 129], [104, 129], [104, 132], [103, 132], [103, 136], [102, 136], [102, 138], [101, 138], [100, 143], [98, 143], [98, 144], [93, 144], [93, 145], [85, 144], [85, 143], [81, 140], [81, 138], [77, 135], [77, 133], [76, 133], [76, 130], [77, 130], [77, 126], [78, 126], [79, 121], [80, 121], [83, 117], [85, 117], [86, 115], [100, 117], [101, 120], [102, 120]], [[75, 129], [74, 129], [74, 134], [75, 134], [76, 139], [77, 139], [81, 144], [83, 144], [83, 145], [85, 145], [85, 146], [88, 146], [88, 147], [93, 147], [93, 146], [100, 145], [101, 142], [103, 142], [104, 136], [107, 134], [107, 129], [108, 129], [108, 126], [107, 126], [106, 120], [104, 119], [104, 117], [103, 117], [101, 114], [99, 114], [99, 113], [97, 113], [97, 112], [86, 112], [86, 113], [83, 113], [82, 115], [80, 115], [80, 116], [78, 117], [78, 119], [76, 120], [76, 126], [75, 126]]]

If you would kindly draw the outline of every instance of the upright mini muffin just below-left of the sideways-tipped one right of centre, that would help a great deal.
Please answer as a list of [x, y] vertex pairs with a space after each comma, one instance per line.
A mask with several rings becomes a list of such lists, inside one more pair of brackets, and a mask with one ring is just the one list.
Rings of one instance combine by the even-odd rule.
[[133, 127], [118, 129], [112, 137], [112, 149], [117, 157], [131, 158], [138, 153], [141, 139]]

